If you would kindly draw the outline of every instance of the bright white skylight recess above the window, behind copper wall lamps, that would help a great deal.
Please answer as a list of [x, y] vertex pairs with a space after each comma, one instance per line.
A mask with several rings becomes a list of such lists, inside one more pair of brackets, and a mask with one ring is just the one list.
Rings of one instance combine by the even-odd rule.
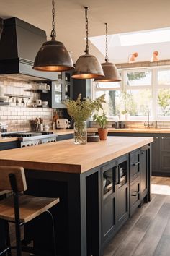
[[[105, 56], [105, 35], [89, 40]], [[128, 57], [138, 53], [136, 61], [150, 61], [153, 51], [158, 59], [170, 59], [170, 27], [108, 35], [108, 56], [113, 63], [127, 63]]]

